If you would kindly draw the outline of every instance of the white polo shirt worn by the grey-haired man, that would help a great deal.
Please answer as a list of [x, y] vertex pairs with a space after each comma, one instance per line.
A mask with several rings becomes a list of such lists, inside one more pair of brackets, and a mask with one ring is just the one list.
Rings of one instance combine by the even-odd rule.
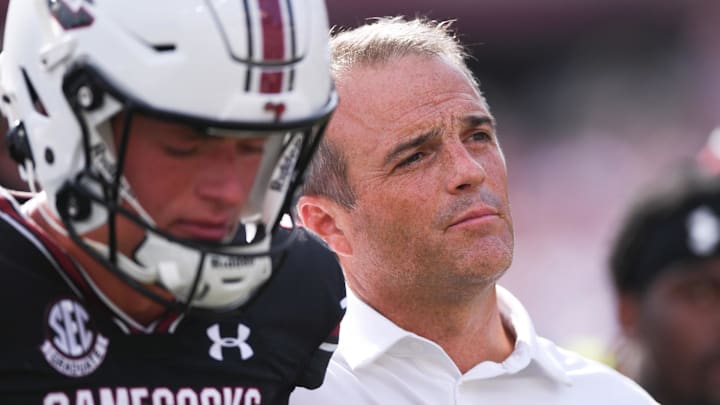
[[517, 336], [515, 350], [502, 363], [482, 362], [461, 374], [440, 346], [399, 328], [348, 290], [324, 384], [296, 389], [290, 404], [657, 404], [610, 367], [537, 336], [522, 304], [502, 287], [497, 296]]

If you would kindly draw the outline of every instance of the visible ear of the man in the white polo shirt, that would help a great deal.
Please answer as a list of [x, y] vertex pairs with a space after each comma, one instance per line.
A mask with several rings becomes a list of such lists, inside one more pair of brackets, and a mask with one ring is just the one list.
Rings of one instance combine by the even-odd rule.
[[322, 196], [301, 196], [297, 213], [303, 225], [316, 233], [340, 256], [352, 255], [352, 247], [341, 226], [343, 209]]

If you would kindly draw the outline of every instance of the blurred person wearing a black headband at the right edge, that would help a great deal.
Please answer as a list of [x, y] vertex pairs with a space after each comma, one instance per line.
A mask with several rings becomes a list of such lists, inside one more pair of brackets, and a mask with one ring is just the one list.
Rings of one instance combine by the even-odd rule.
[[617, 368], [665, 405], [720, 405], [720, 178], [681, 162], [614, 235]]

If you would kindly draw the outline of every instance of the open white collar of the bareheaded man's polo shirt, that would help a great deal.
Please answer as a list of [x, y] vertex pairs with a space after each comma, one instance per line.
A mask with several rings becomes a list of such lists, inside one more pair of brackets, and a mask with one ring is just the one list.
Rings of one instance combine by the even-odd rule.
[[[552, 348], [541, 345], [529, 314], [509, 291], [497, 286], [498, 306], [503, 319], [516, 335], [515, 350], [503, 362], [508, 373], [526, 368], [536, 362], [552, 379], [570, 383], [562, 364], [550, 353]], [[400, 328], [347, 289], [347, 313], [340, 328], [338, 352], [351, 369], [367, 366], [403, 339], [427, 340]]]

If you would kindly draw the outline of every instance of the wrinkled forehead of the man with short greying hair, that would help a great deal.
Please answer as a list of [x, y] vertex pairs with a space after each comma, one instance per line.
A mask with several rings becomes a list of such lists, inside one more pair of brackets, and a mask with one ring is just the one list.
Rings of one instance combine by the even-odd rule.
[[490, 113], [467, 76], [439, 57], [406, 56], [358, 66], [337, 82], [340, 104], [328, 137], [355, 150], [427, 131], [452, 130]]

